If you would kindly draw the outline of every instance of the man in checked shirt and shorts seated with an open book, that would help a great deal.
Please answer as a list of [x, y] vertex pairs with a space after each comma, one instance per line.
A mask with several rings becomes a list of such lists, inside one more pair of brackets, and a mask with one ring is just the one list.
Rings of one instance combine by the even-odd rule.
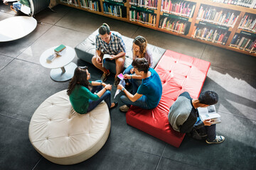
[[112, 58], [108, 60], [114, 60], [116, 64], [117, 74], [114, 77], [114, 86], [117, 86], [120, 81], [117, 75], [124, 69], [125, 46], [121, 35], [111, 33], [107, 23], [103, 23], [99, 28], [99, 35], [96, 35], [96, 55], [92, 57], [92, 64], [103, 72], [102, 81], [106, 81], [107, 76], [110, 75], [110, 70], [102, 67], [102, 57], [104, 54], [111, 55]]

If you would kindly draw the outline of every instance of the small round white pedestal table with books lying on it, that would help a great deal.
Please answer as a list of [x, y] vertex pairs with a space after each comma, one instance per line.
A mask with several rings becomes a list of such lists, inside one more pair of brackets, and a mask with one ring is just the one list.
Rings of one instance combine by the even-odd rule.
[[46, 62], [47, 57], [54, 54], [54, 49], [58, 47], [51, 47], [40, 57], [40, 64], [50, 70], [50, 78], [54, 81], [68, 81], [74, 75], [77, 64], [72, 60], [75, 58], [75, 50], [72, 47], [66, 46], [66, 49], [62, 52], [62, 55], [56, 57], [53, 62]]

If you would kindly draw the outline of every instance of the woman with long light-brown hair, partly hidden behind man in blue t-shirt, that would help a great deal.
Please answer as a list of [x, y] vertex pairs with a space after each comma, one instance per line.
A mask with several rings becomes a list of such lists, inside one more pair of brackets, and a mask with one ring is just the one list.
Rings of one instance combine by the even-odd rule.
[[[153, 59], [152, 59], [152, 53], [147, 47], [147, 41], [146, 38], [142, 36], [137, 36], [134, 38], [132, 42], [132, 59], [135, 58], [146, 58], [146, 60], [149, 62], [149, 67], [153, 67]], [[128, 79], [127, 85], [132, 84], [132, 86], [137, 86], [137, 89], [140, 84], [142, 84], [142, 77], [139, 75], [134, 74], [134, 69], [132, 67], [132, 64], [127, 67], [127, 69], [124, 70], [124, 79]], [[133, 75], [131, 75], [133, 74]]]

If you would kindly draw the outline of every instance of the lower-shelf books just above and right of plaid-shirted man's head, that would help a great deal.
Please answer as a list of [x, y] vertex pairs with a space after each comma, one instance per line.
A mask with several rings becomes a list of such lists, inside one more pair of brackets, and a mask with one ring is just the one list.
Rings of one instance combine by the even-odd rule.
[[126, 7], [103, 3], [104, 13], [110, 14], [112, 16], [125, 17]]

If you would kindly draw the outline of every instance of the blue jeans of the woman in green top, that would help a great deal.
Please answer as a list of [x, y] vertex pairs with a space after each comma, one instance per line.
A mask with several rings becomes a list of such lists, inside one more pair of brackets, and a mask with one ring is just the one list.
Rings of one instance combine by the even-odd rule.
[[[101, 80], [97, 80], [97, 82], [102, 82]], [[95, 92], [101, 91], [103, 86], [92, 86], [92, 94]], [[105, 101], [107, 103], [107, 107], [110, 109], [111, 107], [111, 93], [110, 91], [106, 91], [97, 101], [89, 100], [89, 106], [87, 108], [87, 113], [92, 111], [92, 109], [96, 108], [100, 102]]]

